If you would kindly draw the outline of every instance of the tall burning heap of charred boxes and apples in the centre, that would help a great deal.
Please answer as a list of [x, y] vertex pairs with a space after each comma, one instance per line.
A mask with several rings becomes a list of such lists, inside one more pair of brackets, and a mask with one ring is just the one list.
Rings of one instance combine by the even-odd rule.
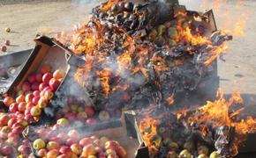
[[196, 90], [231, 39], [210, 28], [207, 14], [171, 1], [118, 0], [93, 9], [92, 18], [58, 40], [85, 60], [75, 78], [94, 106], [115, 113], [149, 104], [167, 106], [177, 92]]

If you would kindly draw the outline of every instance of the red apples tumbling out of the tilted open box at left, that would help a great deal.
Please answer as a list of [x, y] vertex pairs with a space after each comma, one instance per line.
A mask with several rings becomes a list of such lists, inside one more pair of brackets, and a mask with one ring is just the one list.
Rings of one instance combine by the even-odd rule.
[[23, 114], [28, 123], [38, 121], [63, 78], [62, 70], [51, 73], [49, 66], [42, 66], [39, 73], [28, 75], [15, 99], [4, 97], [4, 104], [11, 113]]

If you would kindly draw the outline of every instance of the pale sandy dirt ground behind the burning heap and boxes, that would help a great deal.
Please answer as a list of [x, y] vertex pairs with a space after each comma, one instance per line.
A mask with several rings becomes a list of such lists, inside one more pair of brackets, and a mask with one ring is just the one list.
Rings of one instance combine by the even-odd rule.
[[[202, 5], [200, 1], [181, 1], [183, 4], [186, 3], [189, 9], [199, 9]], [[58, 31], [70, 29], [72, 25], [84, 21], [85, 14], [98, 2], [96, 0], [40, 2], [0, 0], [0, 46], [4, 43], [4, 39], [10, 39], [12, 46], [8, 47], [8, 52], [34, 47], [33, 39], [36, 33], [53, 36]], [[242, 93], [255, 95], [256, 2], [245, 1], [237, 8], [237, 1], [232, 0], [223, 4], [221, 10], [220, 6], [214, 4], [204, 5], [216, 10], [215, 17], [218, 25], [226, 25], [229, 21], [232, 27], [239, 18], [245, 21], [245, 35], [235, 36], [229, 43], [228, 53], [224, 56], [226, 61], [218, 62], [219, 76], [221, 88], [225, 92], [230, 93], [237, 89]], [[246, 18], [241, 17], [244, 12], [248, 14]], [[10, 27], [12, 32], [4, 32], [5, 27]]]

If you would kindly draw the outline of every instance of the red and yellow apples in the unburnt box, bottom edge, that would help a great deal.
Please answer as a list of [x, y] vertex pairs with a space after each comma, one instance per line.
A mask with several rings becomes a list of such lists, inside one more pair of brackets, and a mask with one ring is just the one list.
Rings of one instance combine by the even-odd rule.
[[[48, 131], [48, 132], [47, 132]], [[83, 137], [77, 130], [54, 133], [38, 130], [34, 140], [35, 154], [46, 158], [125, 158], [127, 153], [117, 141], [102, 136]]]

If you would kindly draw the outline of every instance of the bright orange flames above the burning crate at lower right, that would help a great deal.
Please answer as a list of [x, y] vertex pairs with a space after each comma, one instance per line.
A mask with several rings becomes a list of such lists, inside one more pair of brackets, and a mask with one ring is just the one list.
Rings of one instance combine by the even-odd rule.
[[[235, 127], [235, 145], [232, 147], [234, 155], [238, 153], [237, 147], [241, 144], [248, 133], [256, 132], [256, 119], [251, 116], [245, 119], [237, 120], [237, 117], [244, 109], [240, 107], [232, 110], [236, 104], [243, 104], [243, 98], [236, 91], [229, 100], [225, 99], [222, 90], [218, 91], [217, 99], [214, 102], [208, 101], [206, 105], [194, 111], [186, 121], [188, 125], [192, 123], [201, 125], [200, 130], [203, 135], [207, 135], [208, 126], [230, 126]], [[177, 118], [181, 118], [181, 114], [177, 113]]]

